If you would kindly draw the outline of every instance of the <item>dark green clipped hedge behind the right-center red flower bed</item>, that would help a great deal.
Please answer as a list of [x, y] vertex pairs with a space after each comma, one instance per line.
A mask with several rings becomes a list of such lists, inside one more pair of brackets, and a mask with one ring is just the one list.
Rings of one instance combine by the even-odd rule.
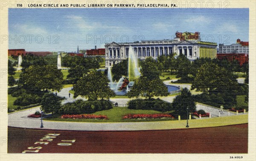
[[161, 99], [134, 99], [128, 102], [128, 108], [166, 112], [172, 110], [172, 104]]

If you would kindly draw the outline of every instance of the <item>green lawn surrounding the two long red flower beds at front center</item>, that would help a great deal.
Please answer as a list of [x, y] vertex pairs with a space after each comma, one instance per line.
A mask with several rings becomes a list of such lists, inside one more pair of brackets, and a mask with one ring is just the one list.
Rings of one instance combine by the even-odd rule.
[[[169, 111], [172, 112], [172, 111]], [[165, 113], [169, 113], [165, 112]], [[132, 119], [132, 120], [122, 120], [122, 116], [125, 114], [154, 114], [161, 113], [155, 110], [130, 110], [127, 107], [113, 107], [110, 110], [98, 111], [92, 113], [95, 115], [105, 115], [108, 116], [108, 120], [97, 120], [97, 119], [61, 119], [61, 118], [47, 118], [45, 120], [52, 121], [82, 121], [82, 122], [134, 122], [134, 121], [166, 121], [170, 119]]]

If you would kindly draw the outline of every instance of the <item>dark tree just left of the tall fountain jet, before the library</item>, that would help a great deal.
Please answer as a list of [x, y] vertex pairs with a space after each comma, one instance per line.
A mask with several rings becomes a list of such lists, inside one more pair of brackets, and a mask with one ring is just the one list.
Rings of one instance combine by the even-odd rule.
[[122, 76], [128, 76], [128, 59], [113, 65], [111, 72], [113, 80], [116, 81], [118, 81]]

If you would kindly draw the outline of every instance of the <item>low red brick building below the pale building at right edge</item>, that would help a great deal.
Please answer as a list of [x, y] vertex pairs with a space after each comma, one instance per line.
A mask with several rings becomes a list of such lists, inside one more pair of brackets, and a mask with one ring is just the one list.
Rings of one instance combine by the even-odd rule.
[[249, 62], [249, 55], [248, 54], [217, 54], [217, 58], [227, 59], [229, 62], [233, 62], [233, 60], [237, 60], [240, 65]]

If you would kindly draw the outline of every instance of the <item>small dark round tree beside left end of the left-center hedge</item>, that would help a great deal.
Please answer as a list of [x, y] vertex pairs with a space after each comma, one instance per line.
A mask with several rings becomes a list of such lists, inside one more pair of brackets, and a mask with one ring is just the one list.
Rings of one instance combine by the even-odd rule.
[[45, 113], [59, 113], [61, 109], [61, 98], [54, 93], [45, 94], [42, 98], [41, 105]]

